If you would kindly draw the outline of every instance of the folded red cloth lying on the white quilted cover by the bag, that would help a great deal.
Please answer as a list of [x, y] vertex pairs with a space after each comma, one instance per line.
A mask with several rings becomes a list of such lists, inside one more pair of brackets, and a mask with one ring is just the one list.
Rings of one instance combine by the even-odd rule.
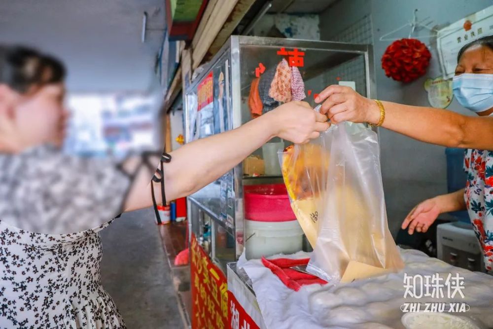
[[262, 257], [262, 264], [270, 269], [289, 289], [297, 292], [301, 289], [301, 286], [306, 285], [325, 285], [327, 281], [322, 280], [315, 275], [299, 272], [293, 270], [292, 266], [306, 265], [310, 261], [310, 258], [303, 259], [289, 259], [289, 258], [277, 258], [267, 259]]

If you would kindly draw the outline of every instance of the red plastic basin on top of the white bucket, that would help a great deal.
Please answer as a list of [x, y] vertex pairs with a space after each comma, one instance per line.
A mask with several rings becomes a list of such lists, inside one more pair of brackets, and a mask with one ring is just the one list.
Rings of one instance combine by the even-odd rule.
[[245, 218], [256, 221], [296, 220], [286, 186], [245, 185]]

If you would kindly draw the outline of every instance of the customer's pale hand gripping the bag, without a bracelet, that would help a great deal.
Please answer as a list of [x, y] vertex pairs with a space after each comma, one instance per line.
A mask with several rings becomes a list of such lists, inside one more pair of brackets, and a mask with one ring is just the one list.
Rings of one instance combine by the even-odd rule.
[[274, 135], [295, 144], [308, 143], [330, 127], [327, 116], [306, 102], [289, 102], [262, 115], [271, 120]]

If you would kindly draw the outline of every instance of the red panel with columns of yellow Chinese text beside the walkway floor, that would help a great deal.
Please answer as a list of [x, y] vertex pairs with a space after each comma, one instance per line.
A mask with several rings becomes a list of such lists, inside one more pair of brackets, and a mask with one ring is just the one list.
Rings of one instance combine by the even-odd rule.
[[226, 329], [228, 326], [228, 281], [192, 234], [191, 291], [192, 329]]

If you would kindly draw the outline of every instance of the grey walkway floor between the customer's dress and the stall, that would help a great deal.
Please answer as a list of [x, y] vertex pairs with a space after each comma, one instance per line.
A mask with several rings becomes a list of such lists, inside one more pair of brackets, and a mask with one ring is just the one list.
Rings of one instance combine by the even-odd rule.
[[170, 266], [152, 209], [124, 214], [102, 231], [102, 281], [128, 329], [181, 329]]

